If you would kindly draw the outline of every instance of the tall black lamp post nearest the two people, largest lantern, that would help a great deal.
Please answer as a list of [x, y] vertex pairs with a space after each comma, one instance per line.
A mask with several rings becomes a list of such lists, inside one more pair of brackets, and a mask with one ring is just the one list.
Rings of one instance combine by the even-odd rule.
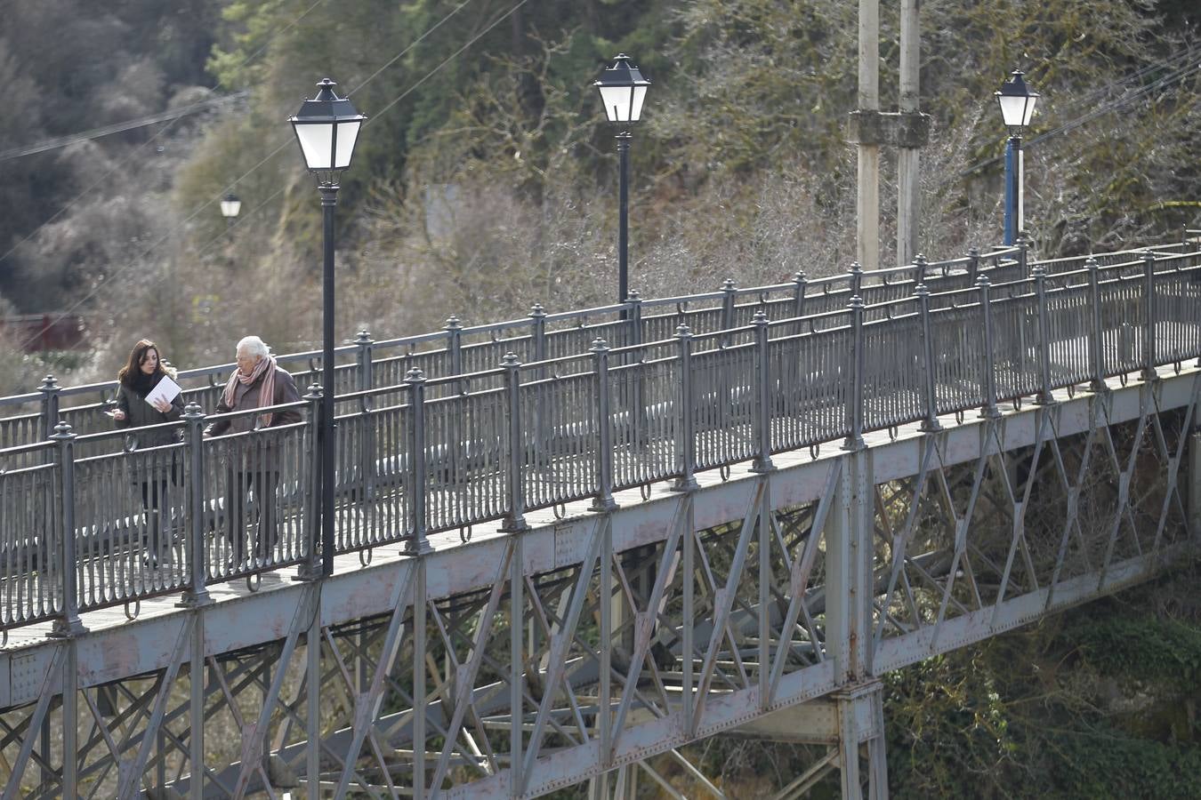
[[345, 97], [334, 94], [333, 80], [317, 84], [319, 91], [300, 106], [288, 121], [295, 131], [309, 172], [317, 176], [321, 193], [322, 242], [322, 356], [321, 356], [321, 575], [334, 573], [334, 206], [337, 175], [351, 166], [363, 114]]

